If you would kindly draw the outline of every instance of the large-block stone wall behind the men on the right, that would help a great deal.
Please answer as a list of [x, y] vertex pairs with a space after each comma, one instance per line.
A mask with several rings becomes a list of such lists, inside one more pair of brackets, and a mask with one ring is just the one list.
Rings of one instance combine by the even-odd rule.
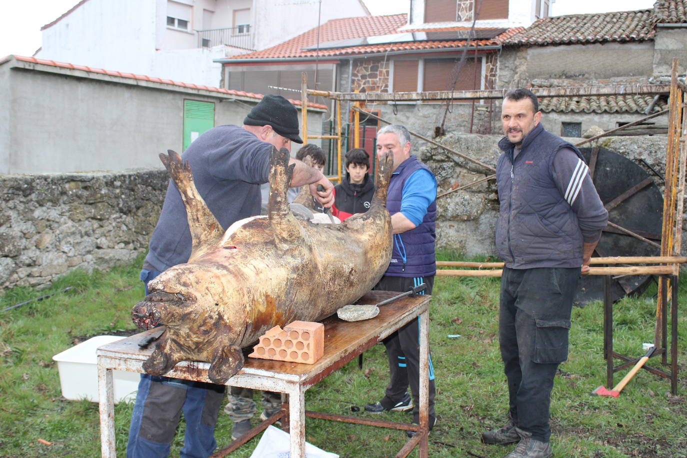
[[[441, 144], [453, 150], [467, 154], [496, 166], [500, 151], [497, 148], [499, 135], [474, 135], [463, 133], [449, 133], [438, 139]], [[567, 139], [575, 144], [581, 139]], [[638, 163], [655, 177], [653, 171], [647, 168], [639, 159], [651, 165], [656, 172], [665, 176], [666, 136], [652, 137], [607, 137], [596, 142], [585, 144], [583, 147], [600, 146], [618, 152]], [[438, 146], [425, 145], [419, 150], [419, 157], [436, 175], [439, 190], [438, 195], [453, 187], [471, 183], [485, 178], [492, 172], [484, 170], [460, 157], [450, 154]], [[661, 179], [655, 179], [659, 190], [663, 193]], [[437, 199], [437, 246], [454, 250], [468, 256], [493, 255], [496, 253], [494, 244], [494, 229], [499, 203], [494, 180], [480, 183], [465, 190], [455, 191]], [[684, 222], [683, 227], [687, 227]], [[683, 231], [682, 253], [687, 252], [687, 233]]]

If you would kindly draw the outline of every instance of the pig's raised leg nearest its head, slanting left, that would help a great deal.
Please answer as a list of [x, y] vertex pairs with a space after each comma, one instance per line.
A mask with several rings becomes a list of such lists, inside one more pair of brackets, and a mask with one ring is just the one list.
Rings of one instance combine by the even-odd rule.
[[181, 194], [181, 200], [186, 207], [186, 217], [188, 218], [188, 229], [191, 231], [192, 253], [189, 259], [192, 260], [200, 254], [201, 247], [210, 240], [223, 236], [224, 229], [212, 214], [205, 201], [196, 190], [193, 184], [193, 174], [188, 161], [182, 161], [177, 152], [167, 150], [168, 155], [160, 154], [160, 160], [172, 176], [172, 181], [177, 185], [177, 190]]

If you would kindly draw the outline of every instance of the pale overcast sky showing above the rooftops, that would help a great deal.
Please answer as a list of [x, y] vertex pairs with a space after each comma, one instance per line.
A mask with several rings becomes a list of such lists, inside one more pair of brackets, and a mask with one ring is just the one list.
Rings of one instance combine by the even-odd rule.
[[[396, 14], [405, 12], [408, 7], [408, 0], [363, 1], [372, 14]], [[653, 2], [654, 0], [556, 0], [552, 5], [552, 16], [642, 10], [651, 8]], [[0, 0], [4, 19], [0, 27], [0, 57], [8, 54], [32, 56], [41, 47], [41, 27], [57, 19], [76, 3], [78, 0]]]

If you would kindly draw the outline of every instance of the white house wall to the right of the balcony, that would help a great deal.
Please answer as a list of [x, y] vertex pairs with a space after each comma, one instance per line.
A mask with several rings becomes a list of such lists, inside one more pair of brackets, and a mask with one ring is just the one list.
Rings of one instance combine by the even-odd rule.
[[[256, 48], [265, 49], [317, 27], [318, 0], [255, 0]], [[366, 16], [358, 0], [322, 0], [320, 23]]]

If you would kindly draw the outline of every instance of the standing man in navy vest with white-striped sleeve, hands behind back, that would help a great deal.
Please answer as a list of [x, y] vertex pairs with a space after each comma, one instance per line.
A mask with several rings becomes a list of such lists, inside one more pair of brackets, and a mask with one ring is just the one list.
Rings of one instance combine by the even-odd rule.
[[572, 300], [608, 212], [582, 154], [543, 128], [531, 91], [508, 91], [501, 119], [496, 247], [506, 266], [499, 345], [510, 408], [507, 424], [482, 440], [518, 442], [506, 458], [548, 458], [550, 396], [567, 359]]

